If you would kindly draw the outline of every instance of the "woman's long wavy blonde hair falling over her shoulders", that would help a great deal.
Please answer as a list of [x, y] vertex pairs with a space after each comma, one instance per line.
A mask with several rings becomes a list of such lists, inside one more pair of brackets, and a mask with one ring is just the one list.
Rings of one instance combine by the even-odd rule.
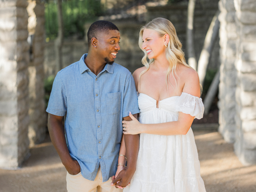
[[[143, 65], [147, 68], [146, 70], [141, 72], [139, 79], [141, 79], [141, 76], [148, 71], [150, 65], [154, 62], [154, 59], [149, 59], [149, 62], [147, 61], [147, 52], [145, 49], [142, 48], [142, 44], [143, 44], [142, 36], [143, 36], [143, 32], [145, 29], [152, 29], [152, 30], [158, 32], [160, 37], [164, 36], [165, 34], [168, 34], [170, 37], [168, 46], [167, 46], [166, 52], [165, 52], [166, 59], [169, 62], [168, 72], [166, 74], [166, 86], [167, 86], [167, 90], [169, 93], [168, 82], [171, 84], [169, 76], [170, 76], [171, 72], [172, 72], [173, 77], [174, 77], [174, 73], [175, 73], [175, 75], [177, 75], [176, 71], [175, 71], [177, 64], [179, 63], [179, 64], [185, 65], [186, 67], [189, 67], [191, 69], [193, 69], [193, 68], [190, 67], [186, 63], [186, 60], [184, 57], [184, 52], [181, 49], [182, 45], [181, 45], [181, 42], [179, 41], [179, 38], [177, 37], [176, 30], [175, 30], [173, 24], [168, 19], [158, 17], [158, 18], [154, 18], [152, 21], [148, 22], [146, 25], [141, 27], [141, 30], [139, 33], [139, 46], [140, 46], [141, 50], [145, 53], [145, 55], [141, 61], [142, 61]], [[178, 85], [177, 85], [177, 81], [176, 81], [175, 77], [174, 77], [174, 80], [176, 82], [177, 91], [178, 91]], [[172, 87], [174, 88], [173, 85], [172, 85]]]

